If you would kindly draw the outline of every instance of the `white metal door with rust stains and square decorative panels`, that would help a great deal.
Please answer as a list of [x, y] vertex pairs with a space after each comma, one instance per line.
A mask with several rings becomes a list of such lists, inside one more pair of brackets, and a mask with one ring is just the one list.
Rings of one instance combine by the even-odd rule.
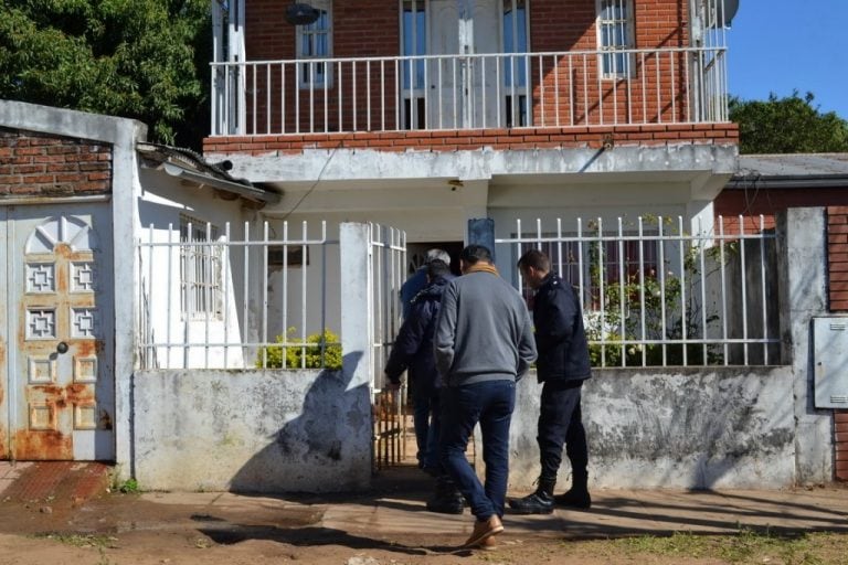
[[113, 460], [107, 203], [13, 206], [7, 221], [10, 457]]

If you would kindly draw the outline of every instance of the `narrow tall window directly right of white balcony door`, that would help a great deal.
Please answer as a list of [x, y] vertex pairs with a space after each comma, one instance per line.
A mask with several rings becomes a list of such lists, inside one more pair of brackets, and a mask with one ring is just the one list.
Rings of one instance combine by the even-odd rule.
[[527, 2], [504, 0], [504, 86], [506, 87], [506, 125], [529, 126], [527, 115]]

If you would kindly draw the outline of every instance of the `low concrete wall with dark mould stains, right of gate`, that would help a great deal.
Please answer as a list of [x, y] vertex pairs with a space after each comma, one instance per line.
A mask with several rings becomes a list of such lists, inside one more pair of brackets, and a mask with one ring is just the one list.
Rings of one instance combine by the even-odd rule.
[[[583, 387], [582, 401], [590, 486], [792, 486], [792, 369], [784, 366], [595, 370]], [[519, 383], [509, 476], [510, 488], [517, 490], [532, 490], [539, 476], [540, 395], [534, 374]], [[561, 488], [570, 484], [569, 473], [563, 457]]]

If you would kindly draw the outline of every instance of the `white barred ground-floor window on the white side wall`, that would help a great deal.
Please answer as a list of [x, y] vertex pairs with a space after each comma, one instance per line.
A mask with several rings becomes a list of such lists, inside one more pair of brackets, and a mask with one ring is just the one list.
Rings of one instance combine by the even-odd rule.
[[180, 216], [181, 308], [186, 319], [220, 319], [221, 257], [218, 227]]

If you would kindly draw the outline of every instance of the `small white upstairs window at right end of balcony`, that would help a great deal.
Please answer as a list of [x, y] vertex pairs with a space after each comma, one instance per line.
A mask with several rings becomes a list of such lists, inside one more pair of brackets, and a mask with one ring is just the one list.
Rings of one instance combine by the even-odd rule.
[[633, 76], [632, 0], [597, 0], [597, 45], [604, 78]]

